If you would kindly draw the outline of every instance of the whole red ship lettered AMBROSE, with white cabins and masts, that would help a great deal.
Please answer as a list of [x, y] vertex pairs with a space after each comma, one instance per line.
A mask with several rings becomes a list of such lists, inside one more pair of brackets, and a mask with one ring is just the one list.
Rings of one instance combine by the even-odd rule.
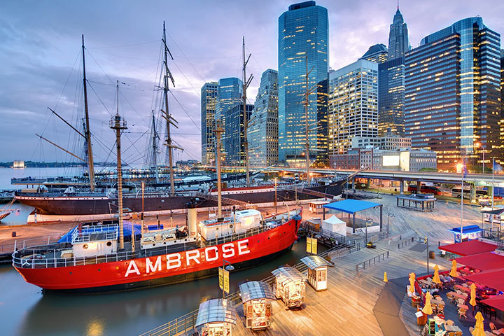
[[[188, 204], [188, 223], [184, 228], [150, 230], [144, 226], [142, 213], [139, 228], [130, 225], [128, 233], [123, 222], [120, 149], [120, 135], [127, 127], [119, 108], [110, 126], [116, 132], [118, 156], [118, 224], [78, 225], [69, 232], [69, 239], [57, 244], [15, 251], [13, 267], [27, 282], [44, 290], [80, 293], [130, 290], [211, 276], [225, 261], [235, 268], [247, 267], [293, 246], [302, 209], [268, 218], [263, 218], [258, 210], [246, 209], [224, 218], [221, 181], [218, 218], [197, 223], [196, 204], [192, 202]], [[218, 139], [221, 132], [218, 125]], [[217, 151], [220, 180], [219, 146]]]

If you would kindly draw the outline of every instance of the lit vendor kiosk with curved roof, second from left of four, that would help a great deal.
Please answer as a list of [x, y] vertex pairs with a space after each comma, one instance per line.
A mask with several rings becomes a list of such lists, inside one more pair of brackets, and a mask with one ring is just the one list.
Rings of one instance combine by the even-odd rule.
[[276, 298], [264, 281], [248, 281], [239, 285], [246, 328], [261, 330], [269, 327], [272, 318], [272, 301]]

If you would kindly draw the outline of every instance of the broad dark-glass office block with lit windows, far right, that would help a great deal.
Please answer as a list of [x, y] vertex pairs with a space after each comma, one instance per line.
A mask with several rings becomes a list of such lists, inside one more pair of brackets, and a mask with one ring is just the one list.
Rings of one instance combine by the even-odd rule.
[[466, 18], [405, 54], [405, 133], [437, 167], [499, 158], [500, 35]]

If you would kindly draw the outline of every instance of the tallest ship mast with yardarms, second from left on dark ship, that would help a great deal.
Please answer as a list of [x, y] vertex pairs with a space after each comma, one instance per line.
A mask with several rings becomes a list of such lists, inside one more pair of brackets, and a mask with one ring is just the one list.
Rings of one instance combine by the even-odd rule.
[[170, 188], [172, 190], [172, 195], [174, 195], [175, 193], [175, 184], [174, 184], [174, 169], [173, 169], [173, 148], [176, 148], [176, 149], [180, 149], [181, 151], [183, 151], [182, 148], [180, 148], [179, 146], [175, 146], [173, 143], [172, 143], [172, 136], [170, 134], [170, 125], [173, 125], [175, 128], [179, 128], [176, 124], [178, 124], [178, 122], [172, 117], [170, 116], [169, 114], [169, 110], [168, 110], [168, 92], [169, 92], [169, 87], [168, 87], [168, 78], [170, 80], [172, 80], [172, 84], [175, 86], [175, 81], [174, 81], [174, 78], [172, 76], [172, 72], [169, 71], [169, 68], [168, 68], [168, 54], [170, 55], [170, 58], [173, 60], [174, 58], [172, 57], [172, 52], [169, 51], [168, 49], [168, 45], [166, 43], [166, 28], [165, 28], [165, 21], [163, 21], [163, 38], [162, 38], [162, 42], [163, 42], [163, 45], [164, 45], [164, 48], [165, 48], [165, 57], [163, 59], [163, 63], [165, 64], [165, 81], [164, 81], [164, 85], [163, 85], [163, 91], [165, 92], [165, 111], [161, 110], [162, 111], [162, 117], [165, 118], [166, 122], [167, 122], [167, 139], [166, 139], [166, 143], [165, 145], [167, 146], [168, 148], [168, 161], [169, 161], [169, 169], [170, 169]]

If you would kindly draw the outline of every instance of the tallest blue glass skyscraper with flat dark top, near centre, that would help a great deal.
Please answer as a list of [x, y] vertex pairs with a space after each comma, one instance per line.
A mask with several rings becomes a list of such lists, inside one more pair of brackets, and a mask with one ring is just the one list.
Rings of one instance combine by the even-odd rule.
[[[316, 6], [315, 1], [290, 5], [279, 17], [279, 160], [304, 162], [305, 122], [304, 93], [307, 90], [305, 75], [308, 71], [308, 88], [315, 87], [309, 95], [308, 124], [310, 157], [325, 151], [319, 148], [317, 131], [317, 98], [327, 79], [329, 59], [328, 11]], [[313, 68], [313, 69], [312, 69]]]

